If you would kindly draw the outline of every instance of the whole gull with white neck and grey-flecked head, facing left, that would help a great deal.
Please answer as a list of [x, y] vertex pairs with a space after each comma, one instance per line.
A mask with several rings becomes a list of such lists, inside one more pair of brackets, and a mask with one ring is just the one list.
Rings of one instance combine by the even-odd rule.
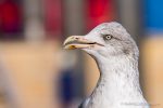
[[149, 108], [139, 84], [139, 50], [120, 23], [103, 23], [86, 36], [71, 36], [64, 49], [85, 51], [100, 70], [96, 89], [79, 108]]

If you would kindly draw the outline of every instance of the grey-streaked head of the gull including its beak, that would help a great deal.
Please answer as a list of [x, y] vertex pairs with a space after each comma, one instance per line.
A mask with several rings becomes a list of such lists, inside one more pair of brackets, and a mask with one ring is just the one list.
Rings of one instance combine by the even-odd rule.
[[135, 41], [116, 22], [100, 24], [85, 36], [71, 36], [63, 45], [66, 50], [80, 49], [96, 58], [121, 55], [138, 57]]

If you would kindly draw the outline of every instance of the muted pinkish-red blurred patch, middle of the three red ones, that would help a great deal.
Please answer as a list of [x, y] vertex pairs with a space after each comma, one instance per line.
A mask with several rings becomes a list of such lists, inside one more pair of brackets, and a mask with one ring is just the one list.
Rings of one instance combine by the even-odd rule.
[[61, 0], [43, 0], [43, 5], [48, 36], [59, 38], [62, 32]]

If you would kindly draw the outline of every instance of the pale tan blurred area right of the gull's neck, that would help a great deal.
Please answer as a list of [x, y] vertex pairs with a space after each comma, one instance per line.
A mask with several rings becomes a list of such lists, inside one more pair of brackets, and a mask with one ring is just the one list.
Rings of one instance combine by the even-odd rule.
[[146, 97], [151, 108], [163, 108], [163, 38], [147, 39], [140, 52]]

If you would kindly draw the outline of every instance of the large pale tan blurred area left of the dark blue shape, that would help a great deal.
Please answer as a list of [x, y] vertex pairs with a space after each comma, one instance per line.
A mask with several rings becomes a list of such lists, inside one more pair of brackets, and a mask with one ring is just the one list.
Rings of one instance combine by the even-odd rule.
[[59, 108], [53, 89], [59, 73], [58, 42], [5, 42], [0, 49], [2, 64], [8, 68], [1, 71], [1, 81], [10, 94], [9, 107]]

